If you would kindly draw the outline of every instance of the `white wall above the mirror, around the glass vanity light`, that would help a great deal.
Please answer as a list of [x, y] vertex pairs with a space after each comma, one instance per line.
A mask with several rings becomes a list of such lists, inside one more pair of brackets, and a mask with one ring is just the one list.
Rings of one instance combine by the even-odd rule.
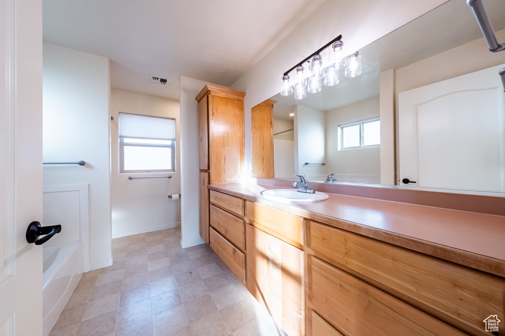
[[280, 78], [286, 70], [340, 34], [345, 50], [351, 53], [446, 1], [327, 0], [323, 3], [232, 85], [233, 89], [247, 93], [244, 102], [246, 166], [252, 157], [250, 110], [279, 93]]

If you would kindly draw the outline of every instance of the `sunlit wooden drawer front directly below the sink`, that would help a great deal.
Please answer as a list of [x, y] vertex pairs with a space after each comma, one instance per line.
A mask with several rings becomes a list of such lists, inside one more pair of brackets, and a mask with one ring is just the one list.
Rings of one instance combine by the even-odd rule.
[[304, 222], [301, 217], [248, 200], [245, 204], [245, 216], [249, 220], [288, 238], [288, 242], [298, 244], [298, 248], [304, 245]]

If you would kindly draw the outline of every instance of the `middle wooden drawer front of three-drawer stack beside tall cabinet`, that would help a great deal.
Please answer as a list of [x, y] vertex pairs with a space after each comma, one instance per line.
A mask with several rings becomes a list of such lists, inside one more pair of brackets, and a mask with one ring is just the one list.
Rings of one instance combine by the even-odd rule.
[[244, 221], [211, 205], [211, 225], [233, 245], [244, 251]]

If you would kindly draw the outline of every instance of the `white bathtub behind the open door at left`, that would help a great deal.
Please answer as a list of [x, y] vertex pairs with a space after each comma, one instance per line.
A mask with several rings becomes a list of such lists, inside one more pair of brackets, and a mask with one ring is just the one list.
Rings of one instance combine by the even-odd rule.
[[82, 242], [43, 249], [43, 336], [49, 335], [82, 275]]

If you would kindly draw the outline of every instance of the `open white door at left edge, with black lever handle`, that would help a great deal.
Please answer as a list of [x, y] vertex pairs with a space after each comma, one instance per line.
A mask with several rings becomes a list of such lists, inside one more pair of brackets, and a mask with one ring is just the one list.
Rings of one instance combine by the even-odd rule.
[[0, 2], [0, 335], [42, 334], [42, 2]]

